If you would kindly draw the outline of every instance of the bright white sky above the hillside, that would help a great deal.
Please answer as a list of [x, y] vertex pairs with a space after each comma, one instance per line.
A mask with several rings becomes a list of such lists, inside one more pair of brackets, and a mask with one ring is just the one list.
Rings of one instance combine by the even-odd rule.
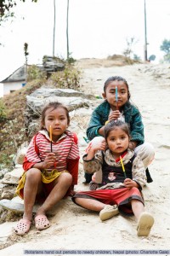
[[[29, 64], [41, 64], [43, 55], [53, 55], [54, 0], [17, 2], [16, 18], [0, 26], [0, 81], [24, 64], [24, 43], [28, 44]], [[170, 40], [170, 1], [145, 2], [148, 57], [154, 54], [159, 61], [162, 41]], [[55, 0], [55, 55], [63, 57], [66, 3], [67, 0]], [[144, 59], [144, 0], [70, 0], [69, 37], [75, 59], [122, 54], [126, 38], [133, 37], [138, 40], [133, 51]]]

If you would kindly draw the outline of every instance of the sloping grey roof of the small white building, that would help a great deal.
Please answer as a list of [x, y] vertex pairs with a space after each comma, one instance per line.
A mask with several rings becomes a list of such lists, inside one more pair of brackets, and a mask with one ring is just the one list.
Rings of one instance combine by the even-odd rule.
[[8, 82], [19, 82], [26, 80], [26, 65], [19, 67], [17, 70], [14, 71], [11, 75], [8, 76], [7, 79], [0, 81], [0, 83], [8, 83]]

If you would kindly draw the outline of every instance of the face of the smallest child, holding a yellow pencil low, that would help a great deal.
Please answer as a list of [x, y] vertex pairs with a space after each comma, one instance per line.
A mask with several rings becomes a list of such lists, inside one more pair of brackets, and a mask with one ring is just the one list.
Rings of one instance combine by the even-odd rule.
[[120, 127], [110, 131], [107, 137], [107, 144], [113, 154], [120, 156], [127, 150], [129, 143], [129, 137], [125, 131], [122, 131]]

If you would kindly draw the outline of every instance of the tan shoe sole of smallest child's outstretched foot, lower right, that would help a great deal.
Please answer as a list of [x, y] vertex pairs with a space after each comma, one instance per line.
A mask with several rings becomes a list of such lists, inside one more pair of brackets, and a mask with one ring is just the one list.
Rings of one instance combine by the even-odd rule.
[[142, 212], [139, 217], [137, 235], [148, 236], [150, 234], [150, 230], [153, 224], [154, 224], [153, 216], [148, 212]]

